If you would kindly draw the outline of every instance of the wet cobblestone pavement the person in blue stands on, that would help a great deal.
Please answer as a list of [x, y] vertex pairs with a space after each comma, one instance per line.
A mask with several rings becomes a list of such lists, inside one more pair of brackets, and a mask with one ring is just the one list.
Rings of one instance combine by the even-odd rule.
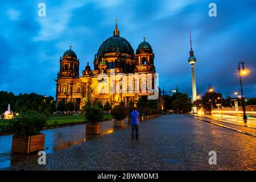
[[[255, 170], [256, 139], [187, 117], [162, 115], [139, 126], [139, 139], [130, 128], [47, 154], [7, 170]], [[217, 152], [210, 165], [209, 151]], [[170, 164], [165, 159], [180, 159]]]

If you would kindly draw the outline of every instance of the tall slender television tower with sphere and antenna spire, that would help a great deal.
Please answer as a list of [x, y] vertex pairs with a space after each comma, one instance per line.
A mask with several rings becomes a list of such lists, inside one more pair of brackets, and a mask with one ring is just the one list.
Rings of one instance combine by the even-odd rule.
[[192, 49], [190, 30], [189, 30], [189, 37], [190, 37], [190, 51], [189, 51], [188, 63], [191, 64], [191, 72], [192, 72], [192, 100], [196, 101], [196, 77], [195, 77], [196, 57], [194, 56], [194, 51]]

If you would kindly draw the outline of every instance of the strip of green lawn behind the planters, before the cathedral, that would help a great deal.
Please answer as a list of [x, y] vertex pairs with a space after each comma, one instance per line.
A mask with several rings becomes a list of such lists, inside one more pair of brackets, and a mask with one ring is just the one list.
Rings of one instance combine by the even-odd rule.
[[[112, 119], [112, 115], [104, 114], [104, 119]], [[65, 123], [86, 121], [84, 115], [56, 115], [47, 120], [47, 125], [60, 125]]]

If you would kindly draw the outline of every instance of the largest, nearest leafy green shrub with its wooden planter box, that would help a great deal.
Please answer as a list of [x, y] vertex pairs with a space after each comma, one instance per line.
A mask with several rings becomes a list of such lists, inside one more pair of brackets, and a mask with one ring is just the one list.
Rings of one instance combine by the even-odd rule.
[[46, 135], [40, 133], [46, 125], [47, 117], [37, 111], [28, 110], [19, 113], [11, 123], [13, 131], [13, 142], [11, 152], [30, 154], [44, 150]]

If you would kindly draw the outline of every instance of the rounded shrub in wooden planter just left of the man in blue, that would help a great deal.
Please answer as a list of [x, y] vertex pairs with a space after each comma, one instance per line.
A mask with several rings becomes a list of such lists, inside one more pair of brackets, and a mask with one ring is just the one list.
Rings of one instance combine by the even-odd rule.
[[127, 117], [128, 110], [126, 109], [125, 105], [123, 103], [119, 104], [118, 106], [115, 106], [114, 109], [112, 109], [111, 114], [114, 119], [117, 119], [114, 121], [114, 126], [115, 127], [123, 127], [124, 126], [124, 121]]

